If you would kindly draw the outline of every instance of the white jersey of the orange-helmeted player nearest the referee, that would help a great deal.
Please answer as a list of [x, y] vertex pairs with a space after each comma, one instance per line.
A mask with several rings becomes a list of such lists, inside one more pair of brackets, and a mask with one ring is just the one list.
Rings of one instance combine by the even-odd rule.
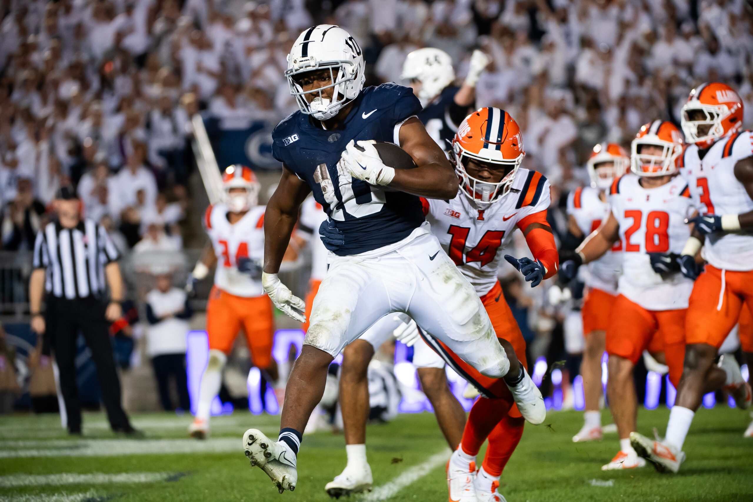
[[252, 278], [238, 270], [238, 258], [248, 257], [261, 266], [264, 260], [264, 206], [252, 207], [243, 217], [230, 224], [227, 205], [209, 205], [204, 227], [217, 256], [215, 286], [236, 297], [260, 297], [261, 277]]

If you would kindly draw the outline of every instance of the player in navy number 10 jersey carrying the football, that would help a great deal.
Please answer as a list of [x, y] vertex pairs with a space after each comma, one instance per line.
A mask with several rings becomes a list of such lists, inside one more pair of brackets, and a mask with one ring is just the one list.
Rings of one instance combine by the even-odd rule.
[[[301, 33], [285, 71], [299, 111], [273, 131], [282, 178], [264, 216], [262, 284], [273, 303], [303, 321], [305, 305], [277, 277], [303, 199], [313, 193], [342, 242], [319, 287], [300, 357], [285, 392], [277, 441], [257, 429], [243, 437], [245, 455], [279, 491], [297, 483], [301, 433], [325, 388], [334, 356], [390, 312], [405, 312], [485, 376], [504, 378], [521, 414], [546, 415], [541, 393], [517, 357], [497, 342], [474, 288], [428, 229], [419, 196], [452, 199], [458, 178], [415, 117], [410, 88], [367, 87], [361, 47], [343, 29]], [[358, 143], [356, 143], [358, 141]], [[416, 163], [386, 166], [373, 141], [394, 141]]]

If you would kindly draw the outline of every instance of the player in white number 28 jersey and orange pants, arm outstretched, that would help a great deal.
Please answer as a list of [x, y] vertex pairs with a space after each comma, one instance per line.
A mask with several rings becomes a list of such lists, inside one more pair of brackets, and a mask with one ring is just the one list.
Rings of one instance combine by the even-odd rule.
[[619, 315], [612, 315], [606, 327], [607, 395], [620, 452], [602, 470], [645, 465], [630, 446], [638, 406], [633, 367], [643, 351], [663, 347], [675, 385], [682, 372], [684, 319], [693, 281], [681, 274], [675, 257], [690, 236], [684, 221], [694, 209], [687, 184], [677, 175], [681, 153], [681, 132], [672, 123], [654, 120], [642, 126], [633, 139], [632, 173], [612, 183], [611, 213], [560, 271], [573, 275], [582, 263], [623, 242], [623, 274], [611, 306]]

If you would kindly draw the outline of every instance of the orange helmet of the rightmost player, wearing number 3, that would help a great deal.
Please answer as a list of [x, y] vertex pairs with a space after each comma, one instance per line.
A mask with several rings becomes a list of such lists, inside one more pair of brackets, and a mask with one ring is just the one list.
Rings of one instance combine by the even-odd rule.
[[[718, 138], [742, 127], [742, 99], [727, 84], [701, 84], [691, 90], [682, 107], [681, 126], [689, 143], [709, 148]], [[708, 129], [699, 130], [700, 126]]]

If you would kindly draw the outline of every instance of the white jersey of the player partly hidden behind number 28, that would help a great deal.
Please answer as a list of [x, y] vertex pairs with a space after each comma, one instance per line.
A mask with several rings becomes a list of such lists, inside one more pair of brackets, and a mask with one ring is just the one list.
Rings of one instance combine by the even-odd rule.
[[[590, 235], [609, 218], [609, 202], [599, 197], [601, 190], [593, 187], [578, 187], [567, 198], [567, 214], [584, 236]], [[617, 278], [622, 270], [622, 240], [614, 243], [610, 251], [584, 267], [584, 281], [589, 288], [597, 288], [609, 294], [617, 294]]]

